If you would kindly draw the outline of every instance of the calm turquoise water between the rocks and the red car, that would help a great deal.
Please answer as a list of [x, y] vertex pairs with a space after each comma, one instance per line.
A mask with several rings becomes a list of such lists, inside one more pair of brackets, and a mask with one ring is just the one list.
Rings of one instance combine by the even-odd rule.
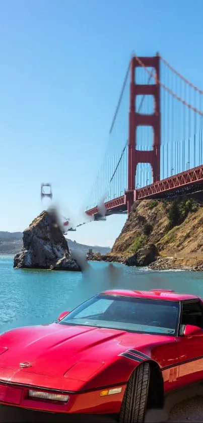
[[0, 333], [18, 326], [49, 323], [104, 289], [168, 288], [203, 297], [203, 273], [167, 271], [92, 262], [85, 273], [13, 268], [12, 256], [0, 256]]

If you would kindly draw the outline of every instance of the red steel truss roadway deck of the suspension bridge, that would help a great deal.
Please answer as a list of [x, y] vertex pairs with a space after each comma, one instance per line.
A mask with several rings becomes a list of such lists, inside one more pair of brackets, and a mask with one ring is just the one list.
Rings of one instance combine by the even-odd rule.
[[[134, 201], [147, 199], [161, 199], [176, 197], [183, 194], [200, 191], [203, 189], [203, 165], [185, 170], [174, 176], [162, 179], [154, 184], [134, 190]], [[104, 203], [106, 216], [111, 214], [126, 214], [127, 200], [126, 194], [114, 198]], [[99, 207], [94, 207], [86, 211], [87, 215], [95, 216], [95, 220], [100, 217]]]

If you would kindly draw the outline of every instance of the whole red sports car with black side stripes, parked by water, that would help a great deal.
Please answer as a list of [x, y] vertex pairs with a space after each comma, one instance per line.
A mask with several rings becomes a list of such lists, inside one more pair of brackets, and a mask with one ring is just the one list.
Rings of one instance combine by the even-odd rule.
[[[0, 336], [0, 402], [143, 421], [171, 390], [203, 380], [203, 302], [171, 290], [112, 290], [50, 325]], [[68, 417], [69, 416], [69, 417]]]

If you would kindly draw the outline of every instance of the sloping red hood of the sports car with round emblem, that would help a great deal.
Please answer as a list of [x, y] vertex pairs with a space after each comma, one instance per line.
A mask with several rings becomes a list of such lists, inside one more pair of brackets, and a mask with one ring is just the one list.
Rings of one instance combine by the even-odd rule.
[[[166, 340], [169, 337], [57, 323], [24, 327], [0, 336], [0, 367], [85, 381], [128, 349], [136, 347], [150, 354], [150, 345]], [[22, 369], [20, 364], [25, 362], [30, 367]]]

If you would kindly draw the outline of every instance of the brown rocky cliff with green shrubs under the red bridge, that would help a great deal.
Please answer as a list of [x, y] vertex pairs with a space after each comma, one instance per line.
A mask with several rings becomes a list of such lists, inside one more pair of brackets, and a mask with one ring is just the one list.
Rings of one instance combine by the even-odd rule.
[[196, 194], [170, 200], [136, 201], [115, 240], [111, 260], [115, 257], [118, 261], [119, 257], [119, 261], [135, 265], [140, 252], [147, 250], [149, 253], [150, 246], [150, 254], [154, 251], [151, 262], [155, 262], [151, 264], [151, 268], [186, 266], [201, 270], [202, 198], [202, 194]]

